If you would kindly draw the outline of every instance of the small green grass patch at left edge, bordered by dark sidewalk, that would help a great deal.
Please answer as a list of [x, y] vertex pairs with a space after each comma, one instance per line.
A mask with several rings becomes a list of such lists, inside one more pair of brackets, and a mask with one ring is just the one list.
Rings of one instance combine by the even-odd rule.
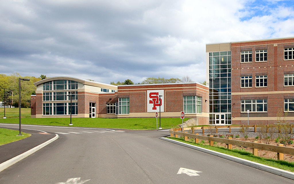
[[19, 134], [19, 131], [17, 130], [0, 128], [0, 145], [18, 141], [18, 140], [31, 136], [31, 134], [26, 134], [23, 132], [21, 132], [23, 136], [17, 136], [18, 134]]

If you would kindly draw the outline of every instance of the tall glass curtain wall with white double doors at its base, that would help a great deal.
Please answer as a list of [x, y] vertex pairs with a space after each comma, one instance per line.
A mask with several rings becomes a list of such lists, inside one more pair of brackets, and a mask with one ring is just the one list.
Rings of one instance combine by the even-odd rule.
[[231, 124], [231, 51], [209, 53], [209, 124]]

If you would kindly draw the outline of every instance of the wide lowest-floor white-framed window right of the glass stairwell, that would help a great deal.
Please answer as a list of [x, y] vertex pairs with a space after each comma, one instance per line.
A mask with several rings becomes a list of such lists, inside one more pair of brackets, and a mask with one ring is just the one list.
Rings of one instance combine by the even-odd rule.
[[267, 112], [268, 100], [255, 99], [255, 100], [241, 100], [241, 112]]

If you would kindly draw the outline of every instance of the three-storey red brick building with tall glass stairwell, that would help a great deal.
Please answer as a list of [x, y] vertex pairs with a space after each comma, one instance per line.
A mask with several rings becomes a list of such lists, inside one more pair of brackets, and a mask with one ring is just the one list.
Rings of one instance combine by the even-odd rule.
[[206, 45], [210, 124], [294, 122], [294, 38]]

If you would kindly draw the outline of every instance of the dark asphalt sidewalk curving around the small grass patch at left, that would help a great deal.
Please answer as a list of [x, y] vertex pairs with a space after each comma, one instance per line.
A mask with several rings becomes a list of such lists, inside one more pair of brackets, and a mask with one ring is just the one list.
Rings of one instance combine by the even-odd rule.
[[[5, 129], [17, 130], [14, 128], [6, 128]], [[19, 141], [11, 142], [9, 144], [4, 144], [0, 146], [0, 164], [14, 158], [26, 151], [31, 150], [32, 148], [39, 146], [40, 144], [54, 138], [55, 134], [46, 134], [41, 131], [36, 130], [27, 130], [22, 129], [22, 132], [31, 134], [30, 137], [25, 139], [21, 139]], [[0, 171], [1, 172], [1, 171]]]

